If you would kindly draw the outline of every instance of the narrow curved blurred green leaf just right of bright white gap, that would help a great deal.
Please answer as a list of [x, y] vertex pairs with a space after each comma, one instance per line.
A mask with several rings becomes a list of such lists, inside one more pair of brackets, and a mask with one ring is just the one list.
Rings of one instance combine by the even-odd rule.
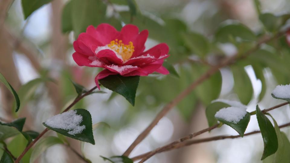
[[263, 73], [263, 68], [261, 66], [259, 66], [258, 64], [252, 64], [252, 67], [255, 72], [256, 78], [260, 79], [262, 83], [262, 89], [259, 94], [259, 101], [261, 101], [263, 97], [265, 96], [266, 90], [267, 90], [266, 79]]

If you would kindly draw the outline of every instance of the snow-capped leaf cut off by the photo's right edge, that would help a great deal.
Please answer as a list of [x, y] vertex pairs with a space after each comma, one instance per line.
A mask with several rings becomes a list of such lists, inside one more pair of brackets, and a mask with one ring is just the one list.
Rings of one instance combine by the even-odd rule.
[[290, 84], [277, 85], [272, 91], [272, 97], [290, 102]]

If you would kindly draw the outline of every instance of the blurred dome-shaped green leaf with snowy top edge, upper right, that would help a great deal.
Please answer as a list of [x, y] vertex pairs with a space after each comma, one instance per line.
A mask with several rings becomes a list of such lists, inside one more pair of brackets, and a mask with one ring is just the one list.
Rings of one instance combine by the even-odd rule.
[[215, 41], [226, 43], [235, 41], [254, 41], [256, 35], [245, 25], [233, 23], [223, 25], [215, 33]]

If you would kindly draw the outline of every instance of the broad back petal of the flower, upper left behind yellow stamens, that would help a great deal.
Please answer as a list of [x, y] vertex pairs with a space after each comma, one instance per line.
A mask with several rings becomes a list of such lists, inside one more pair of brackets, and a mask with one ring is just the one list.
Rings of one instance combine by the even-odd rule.
[[105, 23], [98, 25], [96, 29], [93, 26], [89, 26], [86, 33], [98, 40], [102, 44], [101, 46], [110, 43], [120, 35], [120, 32], [118, 32], [113, 26]]

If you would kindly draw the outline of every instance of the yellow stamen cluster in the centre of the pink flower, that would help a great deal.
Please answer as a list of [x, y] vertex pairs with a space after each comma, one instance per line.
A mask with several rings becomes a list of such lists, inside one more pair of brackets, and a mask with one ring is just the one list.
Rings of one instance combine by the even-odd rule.
[[122, 40], [113, 40], [108, 44], [108, 47], [112, 50], [115, 50], [118, 55], [122, 56], [124, 61], [127, 61], [131, 58], [134, 53], [133, 43], [130, 41], [127, 45], [122, 43]]

